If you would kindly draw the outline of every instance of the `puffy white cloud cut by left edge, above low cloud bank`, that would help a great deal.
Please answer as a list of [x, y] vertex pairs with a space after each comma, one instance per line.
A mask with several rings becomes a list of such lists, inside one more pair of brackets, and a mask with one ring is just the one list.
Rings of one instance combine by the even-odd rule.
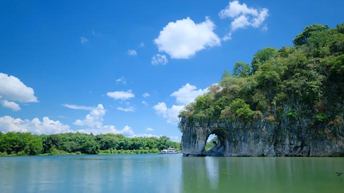
[[18, 111], [21, 108], [14, 101], [23, 103], [38, 102], [34, 94], [34, 90], [27, 87], [17, 77], [0, 73], [0, 103], [2, 106]]

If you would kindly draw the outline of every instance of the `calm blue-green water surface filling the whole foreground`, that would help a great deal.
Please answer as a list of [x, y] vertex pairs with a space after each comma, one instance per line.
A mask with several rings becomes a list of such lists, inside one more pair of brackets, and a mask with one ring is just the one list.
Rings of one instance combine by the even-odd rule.
[[344, 192], [341, 157], [0, 157], [0, 192]]

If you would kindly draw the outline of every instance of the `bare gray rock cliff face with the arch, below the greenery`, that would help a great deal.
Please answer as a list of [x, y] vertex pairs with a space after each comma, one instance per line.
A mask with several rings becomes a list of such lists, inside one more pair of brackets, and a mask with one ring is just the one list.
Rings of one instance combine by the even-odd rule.
[[[180, 129], [182, 152], [185, 156], [343, 156], [344, 132], [339, 128], [336, 137], [315, 133], [310, 120], [269, 123], [265, 119], [254, 122], [190, 121], [182, 118]], [[208, 151], [204, 147], [210, 134], [219, 143]]]

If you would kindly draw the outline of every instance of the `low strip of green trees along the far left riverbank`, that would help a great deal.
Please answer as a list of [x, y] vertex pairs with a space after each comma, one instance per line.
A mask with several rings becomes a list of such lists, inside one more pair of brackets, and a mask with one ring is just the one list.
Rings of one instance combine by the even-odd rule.
[[157, 153], [180, 143], [166, 136], [125, 137], [122, 134], [60, 133], [33, 135], [0, 132], [0, 155]]

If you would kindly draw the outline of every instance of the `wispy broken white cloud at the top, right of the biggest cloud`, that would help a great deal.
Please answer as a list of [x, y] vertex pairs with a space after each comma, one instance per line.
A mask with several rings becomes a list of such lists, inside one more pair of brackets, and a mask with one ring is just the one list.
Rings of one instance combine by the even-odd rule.
[[[230, 31], [223, 38], [224, 40], [229, 40], [232, 32], [236, 31], [237, 29], [246, 27], [260, 27], [265, 19], [269, 16], [269, 10], [266, 8], [248, 8], [246, 4], [240, 4], [238, 1], [232, 1], [229, 2], [225, 9], [220, 11], [219, 16], [221, 19], [232, 19]], [[264, 29], [267, 29], [267, 27], [265, 26]]]

